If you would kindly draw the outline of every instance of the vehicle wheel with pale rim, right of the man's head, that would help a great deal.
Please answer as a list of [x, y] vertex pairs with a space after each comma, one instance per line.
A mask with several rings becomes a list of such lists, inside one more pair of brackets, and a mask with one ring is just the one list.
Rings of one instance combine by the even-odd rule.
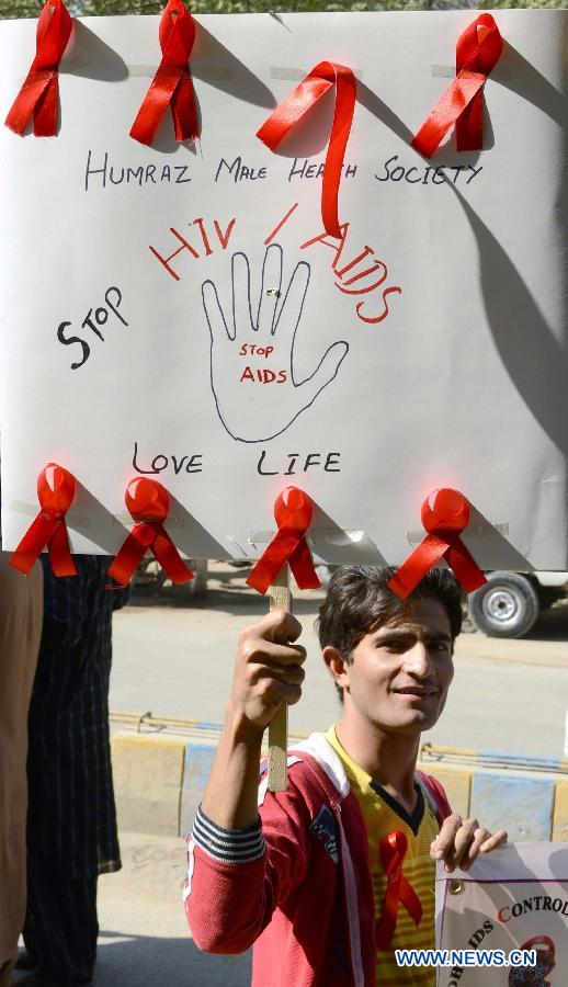
[[533, 583], [519, 572], [491, 572], [486, 586], [472, 593], [468, 605], [475, 626], [490, 637], [523, 637], [539, 612]]

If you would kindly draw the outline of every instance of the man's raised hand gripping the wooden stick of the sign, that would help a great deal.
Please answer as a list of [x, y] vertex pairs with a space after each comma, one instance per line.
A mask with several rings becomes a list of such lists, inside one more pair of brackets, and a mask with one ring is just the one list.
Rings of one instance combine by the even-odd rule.
[[306, 649], [292, 642], [300, 633], [291, 613], [275, 610], [240, 634], [227, 721], [245, 740], [261, 736], [282, 703], [298, 702]]

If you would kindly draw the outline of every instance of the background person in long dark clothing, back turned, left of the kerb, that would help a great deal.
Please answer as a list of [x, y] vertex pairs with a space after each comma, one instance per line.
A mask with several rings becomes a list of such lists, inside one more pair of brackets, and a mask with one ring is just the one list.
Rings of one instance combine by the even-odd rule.
[[75, 556], [77, 576], [44, 566], [44, 627], [30, 706], [26, 987], [91, 982], [99, 874], [121, 867], [111, 768], [113, 590], [105, 556]]

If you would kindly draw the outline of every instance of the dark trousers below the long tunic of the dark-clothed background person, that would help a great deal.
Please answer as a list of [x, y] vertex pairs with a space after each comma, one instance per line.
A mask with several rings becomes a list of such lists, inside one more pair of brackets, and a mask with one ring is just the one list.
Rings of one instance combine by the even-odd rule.
[[24, 942], [37, 969], [57, 987], [89, 984], [96, 957], [96, 876], [76, 880], [39, 848], [27, 850]]

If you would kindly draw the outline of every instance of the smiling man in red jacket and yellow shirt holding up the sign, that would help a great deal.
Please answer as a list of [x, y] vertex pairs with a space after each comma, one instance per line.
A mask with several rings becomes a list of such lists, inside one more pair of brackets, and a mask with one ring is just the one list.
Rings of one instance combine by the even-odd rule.
[[262, 733], [296, 703], [300, 625], [273, 612], [239, 642], [212, 775], [189, 844], [185, 908], [198, 946], [254, 943], [258, 987], [433, 985], [395, 950], [434, 945], [434, 860], [468, 867], [503, 842], [452, 815], [416, 773], [422, 730], [445, 704], [461, 590], [433, 570], [401, 601], [393, 570], [333, 574], [320, 612], [323, 660], [342, 695], [336, 727], [292, 751], [286, 792], [260, 786]]

